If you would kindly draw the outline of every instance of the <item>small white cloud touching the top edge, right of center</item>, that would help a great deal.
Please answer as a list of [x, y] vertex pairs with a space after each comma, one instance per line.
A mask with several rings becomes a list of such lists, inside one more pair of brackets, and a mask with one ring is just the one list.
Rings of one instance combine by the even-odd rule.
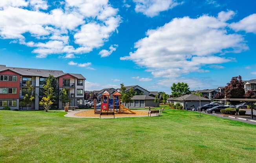
[[133, 0], [133, 2], [136, 4], [135, 11], [137, 13], [143, 13], [149, 17], [154, 17], [161, 11], [183, 4], [183, 2], [178, 3], [176, 0]]

